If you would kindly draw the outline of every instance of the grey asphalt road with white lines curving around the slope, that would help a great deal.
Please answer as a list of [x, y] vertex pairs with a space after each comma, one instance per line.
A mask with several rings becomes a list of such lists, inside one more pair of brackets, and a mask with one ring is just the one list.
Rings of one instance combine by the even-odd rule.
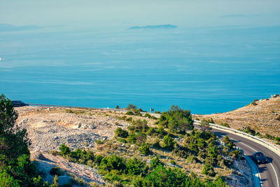
[[[197, 125], [195, 125], [197, 127]], [[235, 144], [241, 148], [246, 155], [251, 156], [254, 152], [261, 151], [267, 156], [269, 162], [258, 165], [262, 186], [264, 187], [280, 187], [280, 156], [270, 149], [262, 146], [255, 141], [239, 137], [234, 132], [225, 132], [223, 130], [212, 129], [219, 138], [224, 136], [230, 137]]]

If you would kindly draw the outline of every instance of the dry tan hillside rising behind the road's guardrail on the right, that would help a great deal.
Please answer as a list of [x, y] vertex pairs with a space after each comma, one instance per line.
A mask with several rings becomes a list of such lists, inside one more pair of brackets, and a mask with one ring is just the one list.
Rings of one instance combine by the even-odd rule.
[[255, 100], [251, 104], [235, 111], [214, 113], [210, 115], [194, 115], [194, 118], [212, 118], [216, 124], [228, 123], [230, 127], [242, 129], [251, 127], [260, 134], [279, 136], [280, 134], [280, 97]]

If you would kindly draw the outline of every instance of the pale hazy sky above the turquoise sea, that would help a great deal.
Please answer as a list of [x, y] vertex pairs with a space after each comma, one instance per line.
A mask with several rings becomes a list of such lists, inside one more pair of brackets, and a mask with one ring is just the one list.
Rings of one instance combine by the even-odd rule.
[[0, 23], [50, 27], [126, 28], [280, 25], [279, 0], [3, 1]]

